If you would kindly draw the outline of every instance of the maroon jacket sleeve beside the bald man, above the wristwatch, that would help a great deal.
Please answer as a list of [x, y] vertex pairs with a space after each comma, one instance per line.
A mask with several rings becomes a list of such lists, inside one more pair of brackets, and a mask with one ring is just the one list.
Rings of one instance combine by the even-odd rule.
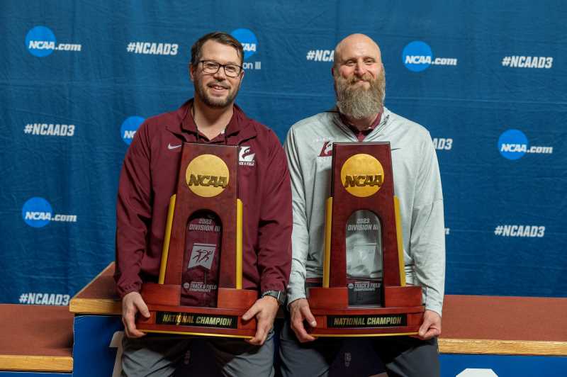
[[283, 147], [269, 132], [271, 153], [264, 171], [258, 228], [260, 288], [285, 291], [291, 270], [291, 184]]

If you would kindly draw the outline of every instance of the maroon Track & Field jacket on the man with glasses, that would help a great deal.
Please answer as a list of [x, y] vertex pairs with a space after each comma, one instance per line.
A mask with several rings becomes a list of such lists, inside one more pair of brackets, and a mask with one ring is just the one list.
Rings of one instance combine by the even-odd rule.
[[[242, 286], [284, 291], [291, 269], [291, 187], [286, 156], [272, 130], [235, 106], [224, 134], [197, 133], [191, 100], [148, 118], [126, 152], [116, 204], [116, 286], [120, 297], [157, 281], [169, 198], [182, 142], [239, 145], [238, 193], [245, 213]], [[198, 140], [199, 139], [199, 140]]]

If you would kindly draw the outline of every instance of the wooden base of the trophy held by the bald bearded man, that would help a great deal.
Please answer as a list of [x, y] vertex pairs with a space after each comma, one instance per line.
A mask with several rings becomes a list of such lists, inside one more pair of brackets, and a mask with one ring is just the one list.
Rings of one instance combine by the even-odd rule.
[[383, 287], [381, 306], [349, 306], [348, 288], [309, 289], [309, 307], [317, 327], [314, 337], [386, 337], [417, 334], [423, 322], [420, 286]]

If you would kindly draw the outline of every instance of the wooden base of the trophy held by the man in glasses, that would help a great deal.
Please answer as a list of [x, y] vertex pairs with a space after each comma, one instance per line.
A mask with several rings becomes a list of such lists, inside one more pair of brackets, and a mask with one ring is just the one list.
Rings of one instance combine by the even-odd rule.
[[137, 317], [136, 327], [140, 331], [237, 338], [252, 338], [256, 334], [256, 319], [242, 320], [258, 298], [256, 291], [218, 288], [216, 308], [179, 305], [178, 285], [145, 283], [141, 294], [150, 318]]

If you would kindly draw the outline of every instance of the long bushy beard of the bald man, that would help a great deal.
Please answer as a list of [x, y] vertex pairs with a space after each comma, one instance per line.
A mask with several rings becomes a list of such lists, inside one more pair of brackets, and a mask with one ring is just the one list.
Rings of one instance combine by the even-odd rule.
[[[369, 89], [364, 86], [354, 86], [357, 81], [368, 81]], [[382, 69], [374, 80], [369, 73], [365, 73], [361, 78], [345, 79], [337, 72], [335, 73], [335, 94], [340, 113], [354, 119], [368, 118], [379, 113], [384, 106], [386, 74]]]

